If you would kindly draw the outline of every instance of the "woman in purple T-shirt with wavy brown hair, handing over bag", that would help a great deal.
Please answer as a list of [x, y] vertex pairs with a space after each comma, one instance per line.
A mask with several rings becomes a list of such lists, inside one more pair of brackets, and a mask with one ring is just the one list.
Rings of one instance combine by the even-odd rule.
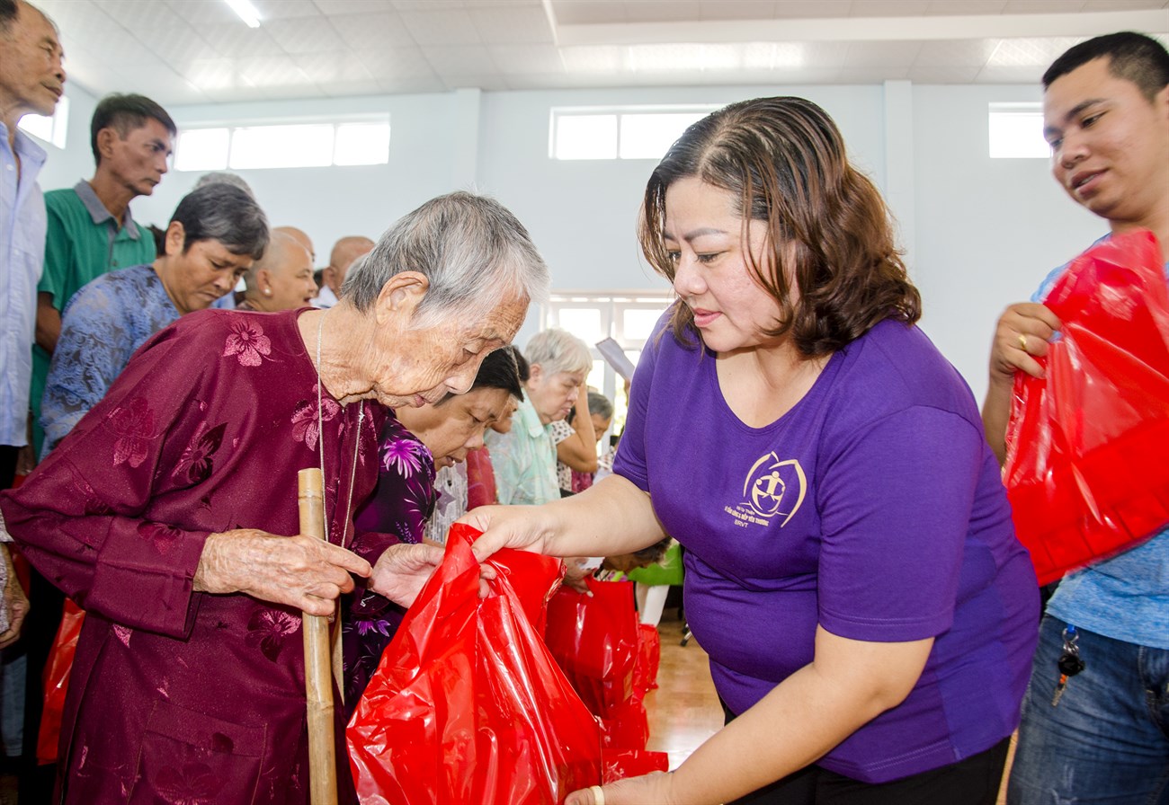
[[992, 805], [1035, 572], [970, 390], [914, 326], [877, 189], [815, 104], [742, 102], [653, 171], [641, 241], [678, 300], [614, 474], [468, 519], [480, 556], [673, 535], [728, 723], [672, 773], [568, 804]]

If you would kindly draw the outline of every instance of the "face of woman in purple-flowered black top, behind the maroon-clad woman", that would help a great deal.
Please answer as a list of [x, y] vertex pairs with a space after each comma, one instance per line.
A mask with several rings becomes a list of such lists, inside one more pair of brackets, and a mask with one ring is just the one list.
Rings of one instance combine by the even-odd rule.
[[511, 395], [504, 389], [471, 389], [450, 397], [441, 405], [403, 408], [397, 419], [422, 439], [435, 458], [435, 469], [466, 458], [469, 450], [483, 446], [483, 435], [507, 410]]

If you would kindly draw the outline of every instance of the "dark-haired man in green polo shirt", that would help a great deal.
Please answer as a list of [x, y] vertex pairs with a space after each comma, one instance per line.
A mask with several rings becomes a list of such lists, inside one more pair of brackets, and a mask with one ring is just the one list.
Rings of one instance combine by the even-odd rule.
[[44, 194], [48, 235], [36, 294], [33, 347], [34, 458], [39, 458], [41, 397], [61, 334], [61, 312], [82, 285], [106, 271], [154, 261], [154, 238], [130, 216], [130, 202], [150, 195], [167, 172], [177, 130], [161, 106], [141, 95], [110, 95], [90, 123], [97, 169], [89, 181]]

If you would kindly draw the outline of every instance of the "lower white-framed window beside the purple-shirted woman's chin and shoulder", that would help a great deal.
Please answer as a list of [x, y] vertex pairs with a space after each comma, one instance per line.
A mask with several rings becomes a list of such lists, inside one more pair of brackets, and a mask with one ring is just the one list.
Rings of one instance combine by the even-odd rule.
[[[629, 398], [624, 382], [613, 370], [596, 342], [606, 338], [615, 339], [629, 361], [637, 366], [642, 348], [653, 332], [653, 325], [662, 312], [673, 301], [670, 291], [637, 291], [604, 293], [584, 291], [553, 293], [545, 305], [541, 327], [561, 327], [582, 339], [593, 352], [593, 370], [587, 383], [613, 401], [611, 432], [620, 433], [625, 426]], [[608, 442], [602, 440], [602, 449]]]

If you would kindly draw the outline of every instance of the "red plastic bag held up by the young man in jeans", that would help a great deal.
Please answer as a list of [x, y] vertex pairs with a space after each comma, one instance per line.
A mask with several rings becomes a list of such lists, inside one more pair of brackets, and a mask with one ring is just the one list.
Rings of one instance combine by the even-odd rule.
[[1063, 335], [1046, 380], [1016, 376], [1003, 470], [1040, 584], [1169, 522], [1169, 291], [1156, 240], [1136, 231], [1093, 247], [1044, 304]]

